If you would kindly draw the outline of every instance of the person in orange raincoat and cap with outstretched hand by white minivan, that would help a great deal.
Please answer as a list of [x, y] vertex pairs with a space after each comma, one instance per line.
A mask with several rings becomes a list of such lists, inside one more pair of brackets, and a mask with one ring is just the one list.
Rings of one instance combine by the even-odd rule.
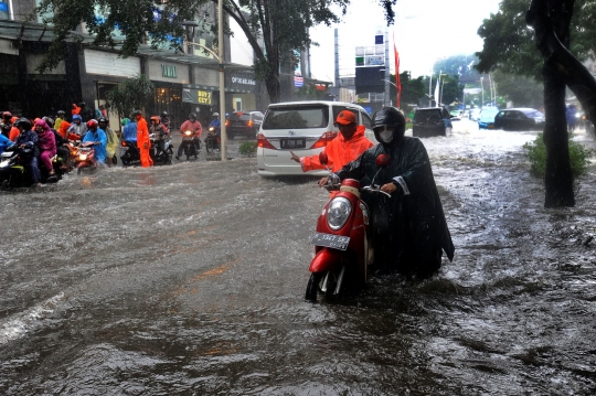
[[[331, 140], [324, 148], [327, 153], [328, 163], [327, 167], [332, 172], [337, 172], [343, 168], [347, 163], [355, 160], [361, 153], [374, 146], [364, 136], [364, 126], [356, 124], [355, 115], [350, 110], [342, 110], [338, 118], [336, 118], [336, 126], [339, 128], [340, 133], [337, 138]], [[322, 163], [319, 162], [319, 156], [312, 157], [298, 157], [290, 151], [291, 159], [300, 163], [302, 172], [312, 171], [316, 169], [326, 169]], [[319, 181], [319, 185], [324, 185], [327, 178], [322, 178]]]

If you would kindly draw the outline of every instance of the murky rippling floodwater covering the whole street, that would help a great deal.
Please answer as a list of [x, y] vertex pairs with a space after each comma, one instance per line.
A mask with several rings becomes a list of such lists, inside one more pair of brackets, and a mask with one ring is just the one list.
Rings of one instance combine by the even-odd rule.
[[596, 167], [545, 210], [535, 132], [454, 127], [424, 140], [454, 263], [316, 304], [316, 179], [201, 160], [0, 193], [0, 394], [594, 395]]

